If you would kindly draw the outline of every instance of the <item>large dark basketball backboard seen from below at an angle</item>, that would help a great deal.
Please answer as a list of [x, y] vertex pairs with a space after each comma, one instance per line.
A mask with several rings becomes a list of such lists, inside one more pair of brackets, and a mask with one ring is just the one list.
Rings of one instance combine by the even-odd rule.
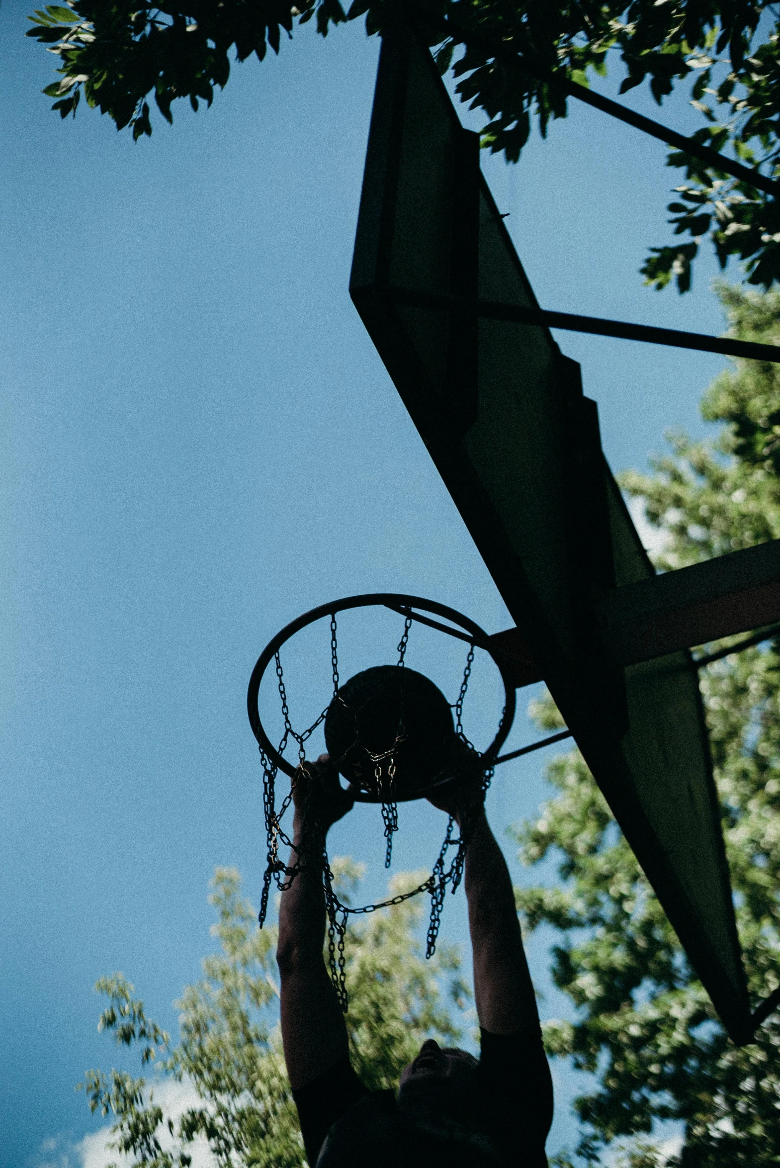
[[726, 1029], [750, 1037], [709, 743], [687, 651], [619, 667], [606, 592], [653, 575], [579, 367], [536, 307], [430, 53], [383, 39], [350, 294], [593, 776]]

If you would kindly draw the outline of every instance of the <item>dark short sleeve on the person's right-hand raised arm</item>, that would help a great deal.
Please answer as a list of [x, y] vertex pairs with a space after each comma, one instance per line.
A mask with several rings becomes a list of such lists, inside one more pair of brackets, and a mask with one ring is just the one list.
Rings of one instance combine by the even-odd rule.
[[552, 1078], [541, 1028], [509, 1035], [482, 1030], [480, 1076], [507, 1163], [544, 1168], [544, 1141], [552, 1124]]

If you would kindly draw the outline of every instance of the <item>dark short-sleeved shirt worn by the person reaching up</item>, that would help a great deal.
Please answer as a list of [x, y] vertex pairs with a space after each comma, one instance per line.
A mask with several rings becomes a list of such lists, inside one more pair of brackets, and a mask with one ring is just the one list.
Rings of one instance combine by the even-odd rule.
[[293, 1091], [293, 1099], [311, 1168], [329, 1132], [323, 1155], [327, 1168], [350, 1168], [350, 1149], [356, 1163], [371, 1162], [376, 1168], [416, 1168], [418, 1161], [431, 1168], [438, 1162], [450, 1168], [459, 1162], [486, 1168], [546, 1166], [544, 1141], [552, 1122], [552, 1080], [536, 1027], [513, 1035], [481, 1031], [473, 1089], [454, 1113], [451, 1110], [453, 1133], [419, 1125], [398, 1105], [392, 1091], [369, 1092], [348, 1057]]

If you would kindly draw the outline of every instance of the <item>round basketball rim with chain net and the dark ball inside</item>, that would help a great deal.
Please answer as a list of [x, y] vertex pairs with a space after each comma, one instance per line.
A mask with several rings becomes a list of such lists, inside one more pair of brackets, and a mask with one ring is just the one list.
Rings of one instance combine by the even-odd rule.
[[[403, 631], [397, 644], [395, 665], [379, 665], [350, 677], [343, 684], [339, 677], [339, 645], [336, 614], [350, 609], [378, 606], [403, 617]], [[416, 611], [417, 610], [417, 611]], [[443, 624], [443, 618], [448, 624]], [[330, 666], [333, 694], [328, 704], [315, 721], [302, 731], [293, 728], [280, 649], [297, 633], [318, 620], [329, 619]], [[464, 641], [468, 646], [466, 663], [458, 697], [453, 703], [430, 679], [406, 667], [405, 656], [413, 623], [427, 625], [441, 633]], [[499, 728], [490, 745], [483, 752], [475, 750], [464, 734], [462, 710], [468, 689], [475, 649], [490, 653], [488, 635], [473, 620], [447, 605], [420, 597], [395, 592], [375, 592], [353, 596], [330, 604], [320, 605], [304, 613], [285, 626], [263, 649], [252, 670], [246, 696], [249, 721], [257, 738], [263, 762], [263, 804], [267, 835], [267, 864], [263, 881], [259, 924], [263, 927], [267, 912], [271, 881], [280, 891], [290, 888], [292, 881], [305, 865], [314, 860], [321, 865], [325, 901], [328, 916], [328, 950], [330, 976], [343, 1010], [347, 1009], [344, 985], [344, 933], [350, 913], [374, 912], [376, 909], [399, 904], [419, 892], [431, 897], [431, 919], [427, 930], [426, 958], [433, 955], [439, 932], [441, 906], [447, 885], [454, 892], [458, 888], [466, 858], [471, 822], [462, 815], [460, 834], [453, 839], [455, 820], [450, 816], [444, 843], [429, 878], [410, 892], [404, 892], [377, 904], [353, 909], [343, 904], [333, 887], [333, 872], [325, 847], [325, 833], [319, 829], [316, 809], [312, 800], [306, 800], [300, 843], [294, 844], [281, 827], [281, 819], [292, 802], [292, 791], [302, 777], [311, 776], [311, 760], [306, 758], [306, 743], [322, 725], [329, 753], [327, 771], [332, 780], [339, 774], [347, 779], [349, 793], [357, 802], [374, 802], [382, 807], [386, 841], [385, 868], [390, 867], [392, 836], [398, 829], [397, 804], [422, 799], [433, 791], [455, 784], [466, 776], [481, 774], [482, 798], [493, 777], [493, 767], [499, 751], [506, 742], [515, 716], [515, 687], [507, 676], [500, 660], [494, 660], [501, 674], [504, 689], [504, 705]], [[273, 662], [284, 732], [274, 746], [260, 719], [258, 700], [260, 684], [269, 666]], [[297, 748], [294, 764], [285, 758], [285, 750]], [[308, 767], [307, 767], [308, 762]], [[277, 808], [276, 780], [283, 771], [292, 779], [291, 791]], [[279, 846], [293, 850], [295, 860], [286, 865], [279, 857]], [[446, 865], [447, 853], [455, 849], [454, 858]]]

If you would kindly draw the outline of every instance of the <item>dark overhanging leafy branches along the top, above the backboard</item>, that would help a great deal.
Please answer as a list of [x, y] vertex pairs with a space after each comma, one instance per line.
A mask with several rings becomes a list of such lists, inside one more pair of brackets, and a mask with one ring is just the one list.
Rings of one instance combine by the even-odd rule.
[[[228, 83], [231, 55], [263, 61], [269, 47], [314, 20], [332, 26], [365, 19], [369, 35], [388, 19], [388, 0], [68, 0], [30, 19], [34, 36], [61, 62], [47, 86], [65, 118], [83, 93], [135, 139], [152, 133], [149, 100], [167, 121], [179, 99], [210, 105]], [[648, 84], [661, 104], [675, 86], [690, 89], [703, 124], [694, 137], [772, 179], [780, 174], [780, 21], [768, 0], [405, 0], [443, 72], [487, 123], [482, 142], [517, 161], [532, 120], [542, 134], [567, 112], [562, 77], [589, 83], [607, 68], [621, 92]], [[768, 288], [780, 279], [780, 215], [774, 197], [680, 151], [668, 165], [684, 171], [669, 204], [674, 242], [652, 248], [642, 272], [661, 288], [690, 287], [691, 264], [709, 236], [725, 266], [745, 262], [748, 279]]]

